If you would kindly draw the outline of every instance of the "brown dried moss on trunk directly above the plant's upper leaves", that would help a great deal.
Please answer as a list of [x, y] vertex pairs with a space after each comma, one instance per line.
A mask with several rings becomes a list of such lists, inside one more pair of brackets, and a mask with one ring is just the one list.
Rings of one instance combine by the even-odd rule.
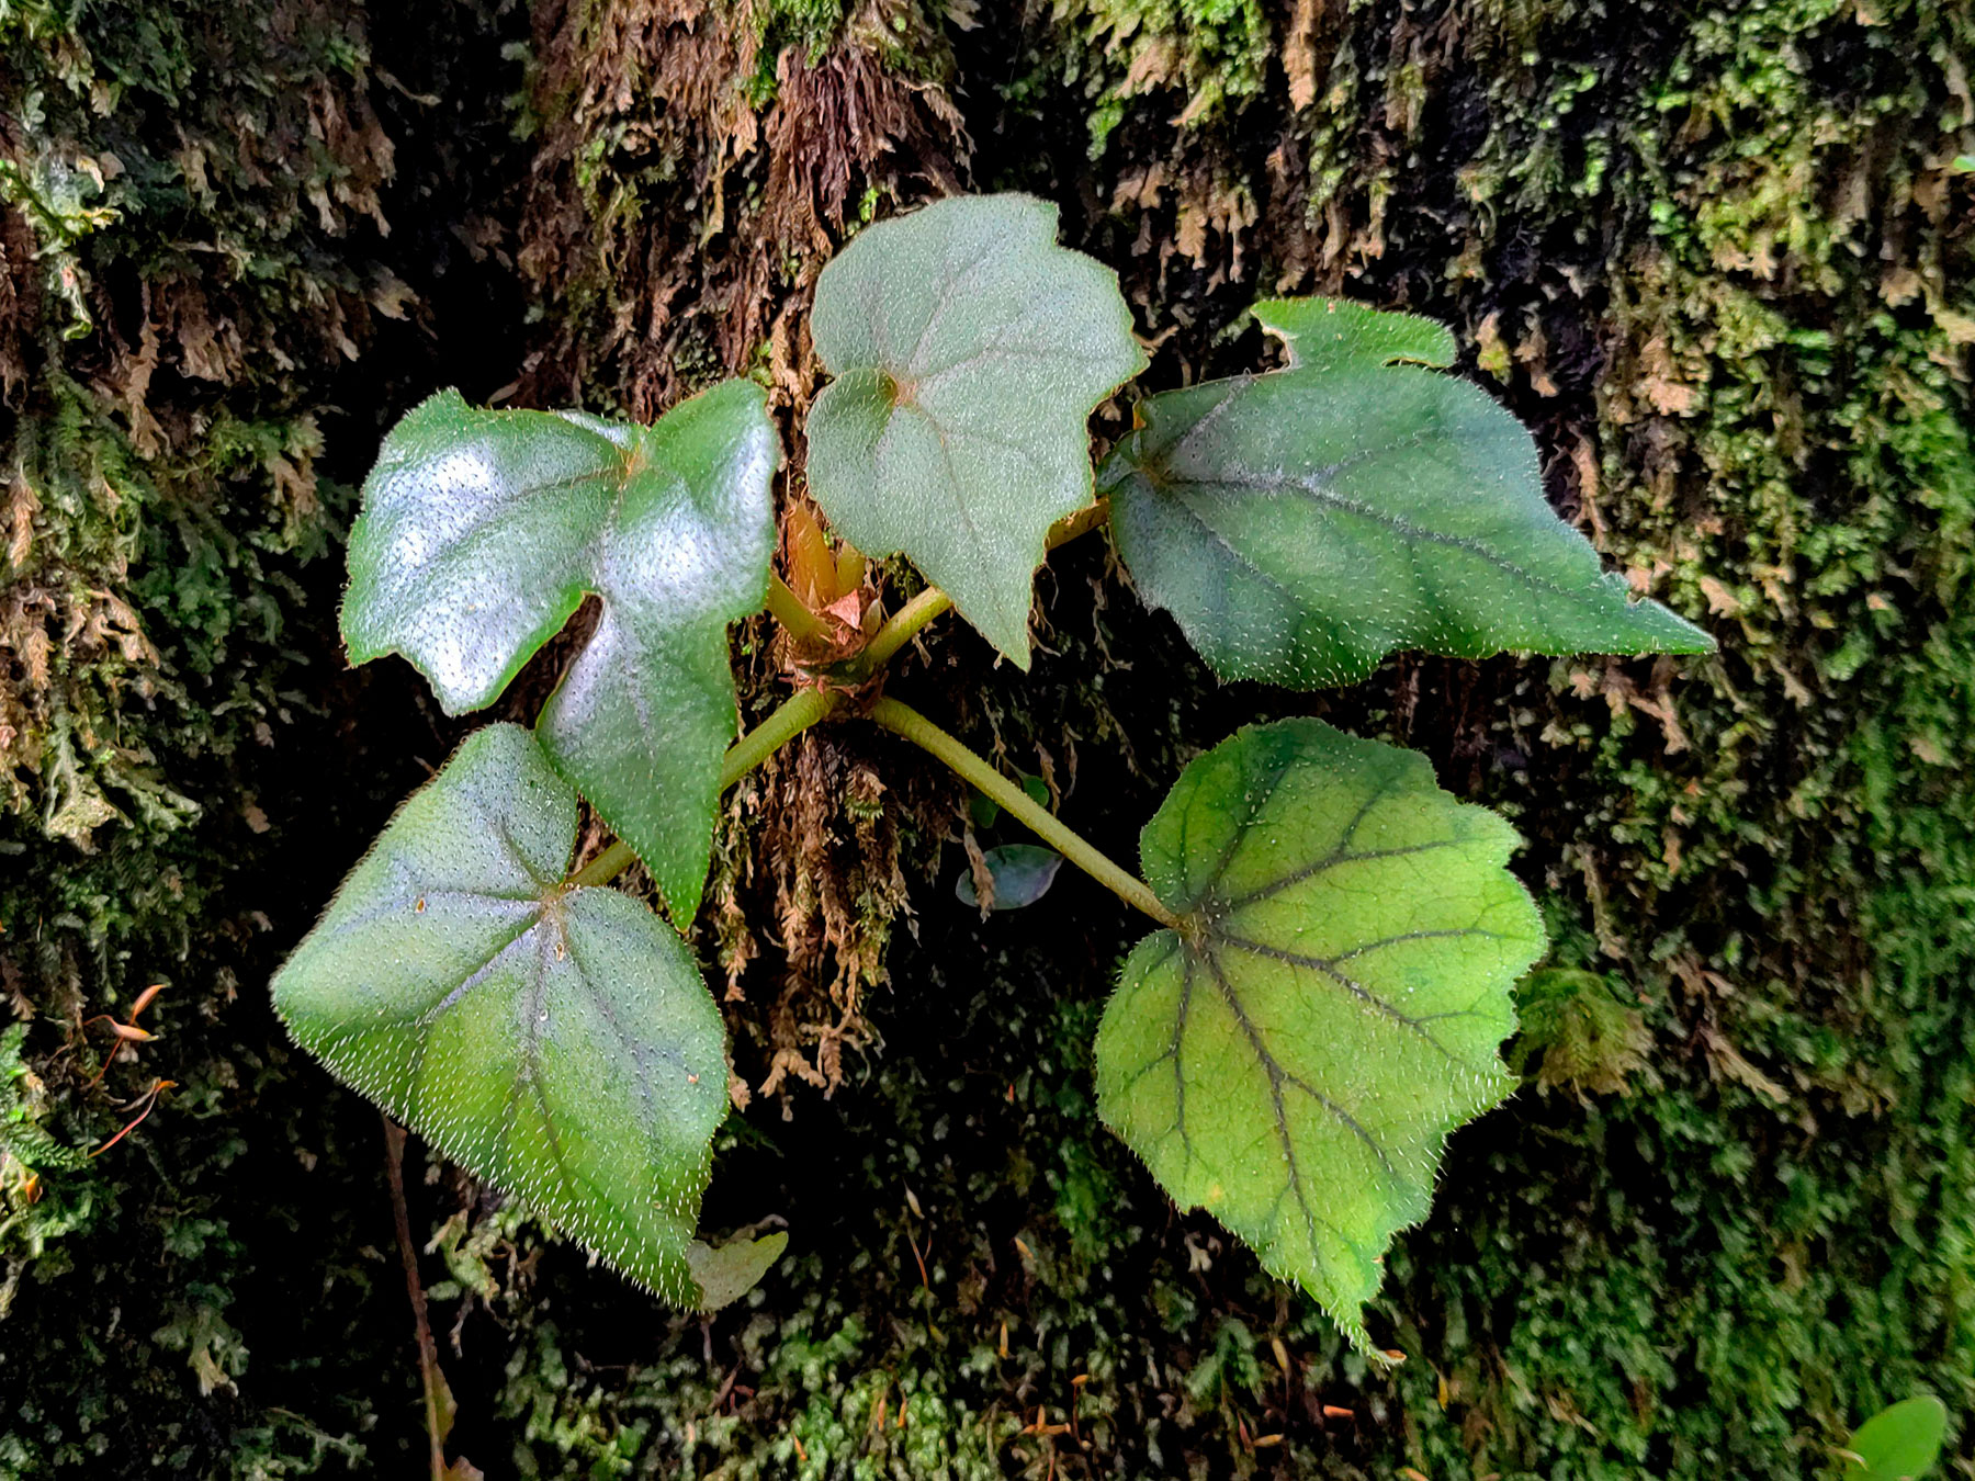
[[535, 12], [531, 107], [541, 144], [519, 265], [561, 304], [515, 395], [604, 399], [654, 419], [776, 344], [772, 389], [804, 395], [810, 282], [865, 192], [914, 199], [966, 168], [938, 79], [887, 65], [938, 32], [910, 4], [869, 0], [818, 59], [786, 47], [756, 107], [760, 34], [711, 0]]

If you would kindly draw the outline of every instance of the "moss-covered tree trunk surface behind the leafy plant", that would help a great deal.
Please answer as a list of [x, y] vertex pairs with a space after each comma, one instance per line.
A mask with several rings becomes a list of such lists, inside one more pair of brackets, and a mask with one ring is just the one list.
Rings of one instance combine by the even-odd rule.
[[1529, 1088], [1388, 1262], [1394, 1376], [1096, 1126], [1108, 896], [982, 924], [946, 782], [826, 729], [737, 794], [697, 930], [749, 1094], [707, 1222], [788, 1258], [679, 1317], [415, 1155], [452, 1447], [1803, 1477], [1908, 1392], [1975, 1414], [1971, 57], [1924, 0], [0, 4], [0, 1477], [423, 1465], [375, 1114], [265, 1001], [460, 733], [340, 667], [352, 486], [444, 383], [654, 417], [749, 373], [800, 466], [816, 271], [958, 188], [1057, 201], [1153, 383], [1248, 363], [1264, 294], [1454, 324], [1722, 652], [1219, 691], [1074, 551], [1033, 675], [912, 662], [1116, 853], [1236, 711], [1517, 819]]

